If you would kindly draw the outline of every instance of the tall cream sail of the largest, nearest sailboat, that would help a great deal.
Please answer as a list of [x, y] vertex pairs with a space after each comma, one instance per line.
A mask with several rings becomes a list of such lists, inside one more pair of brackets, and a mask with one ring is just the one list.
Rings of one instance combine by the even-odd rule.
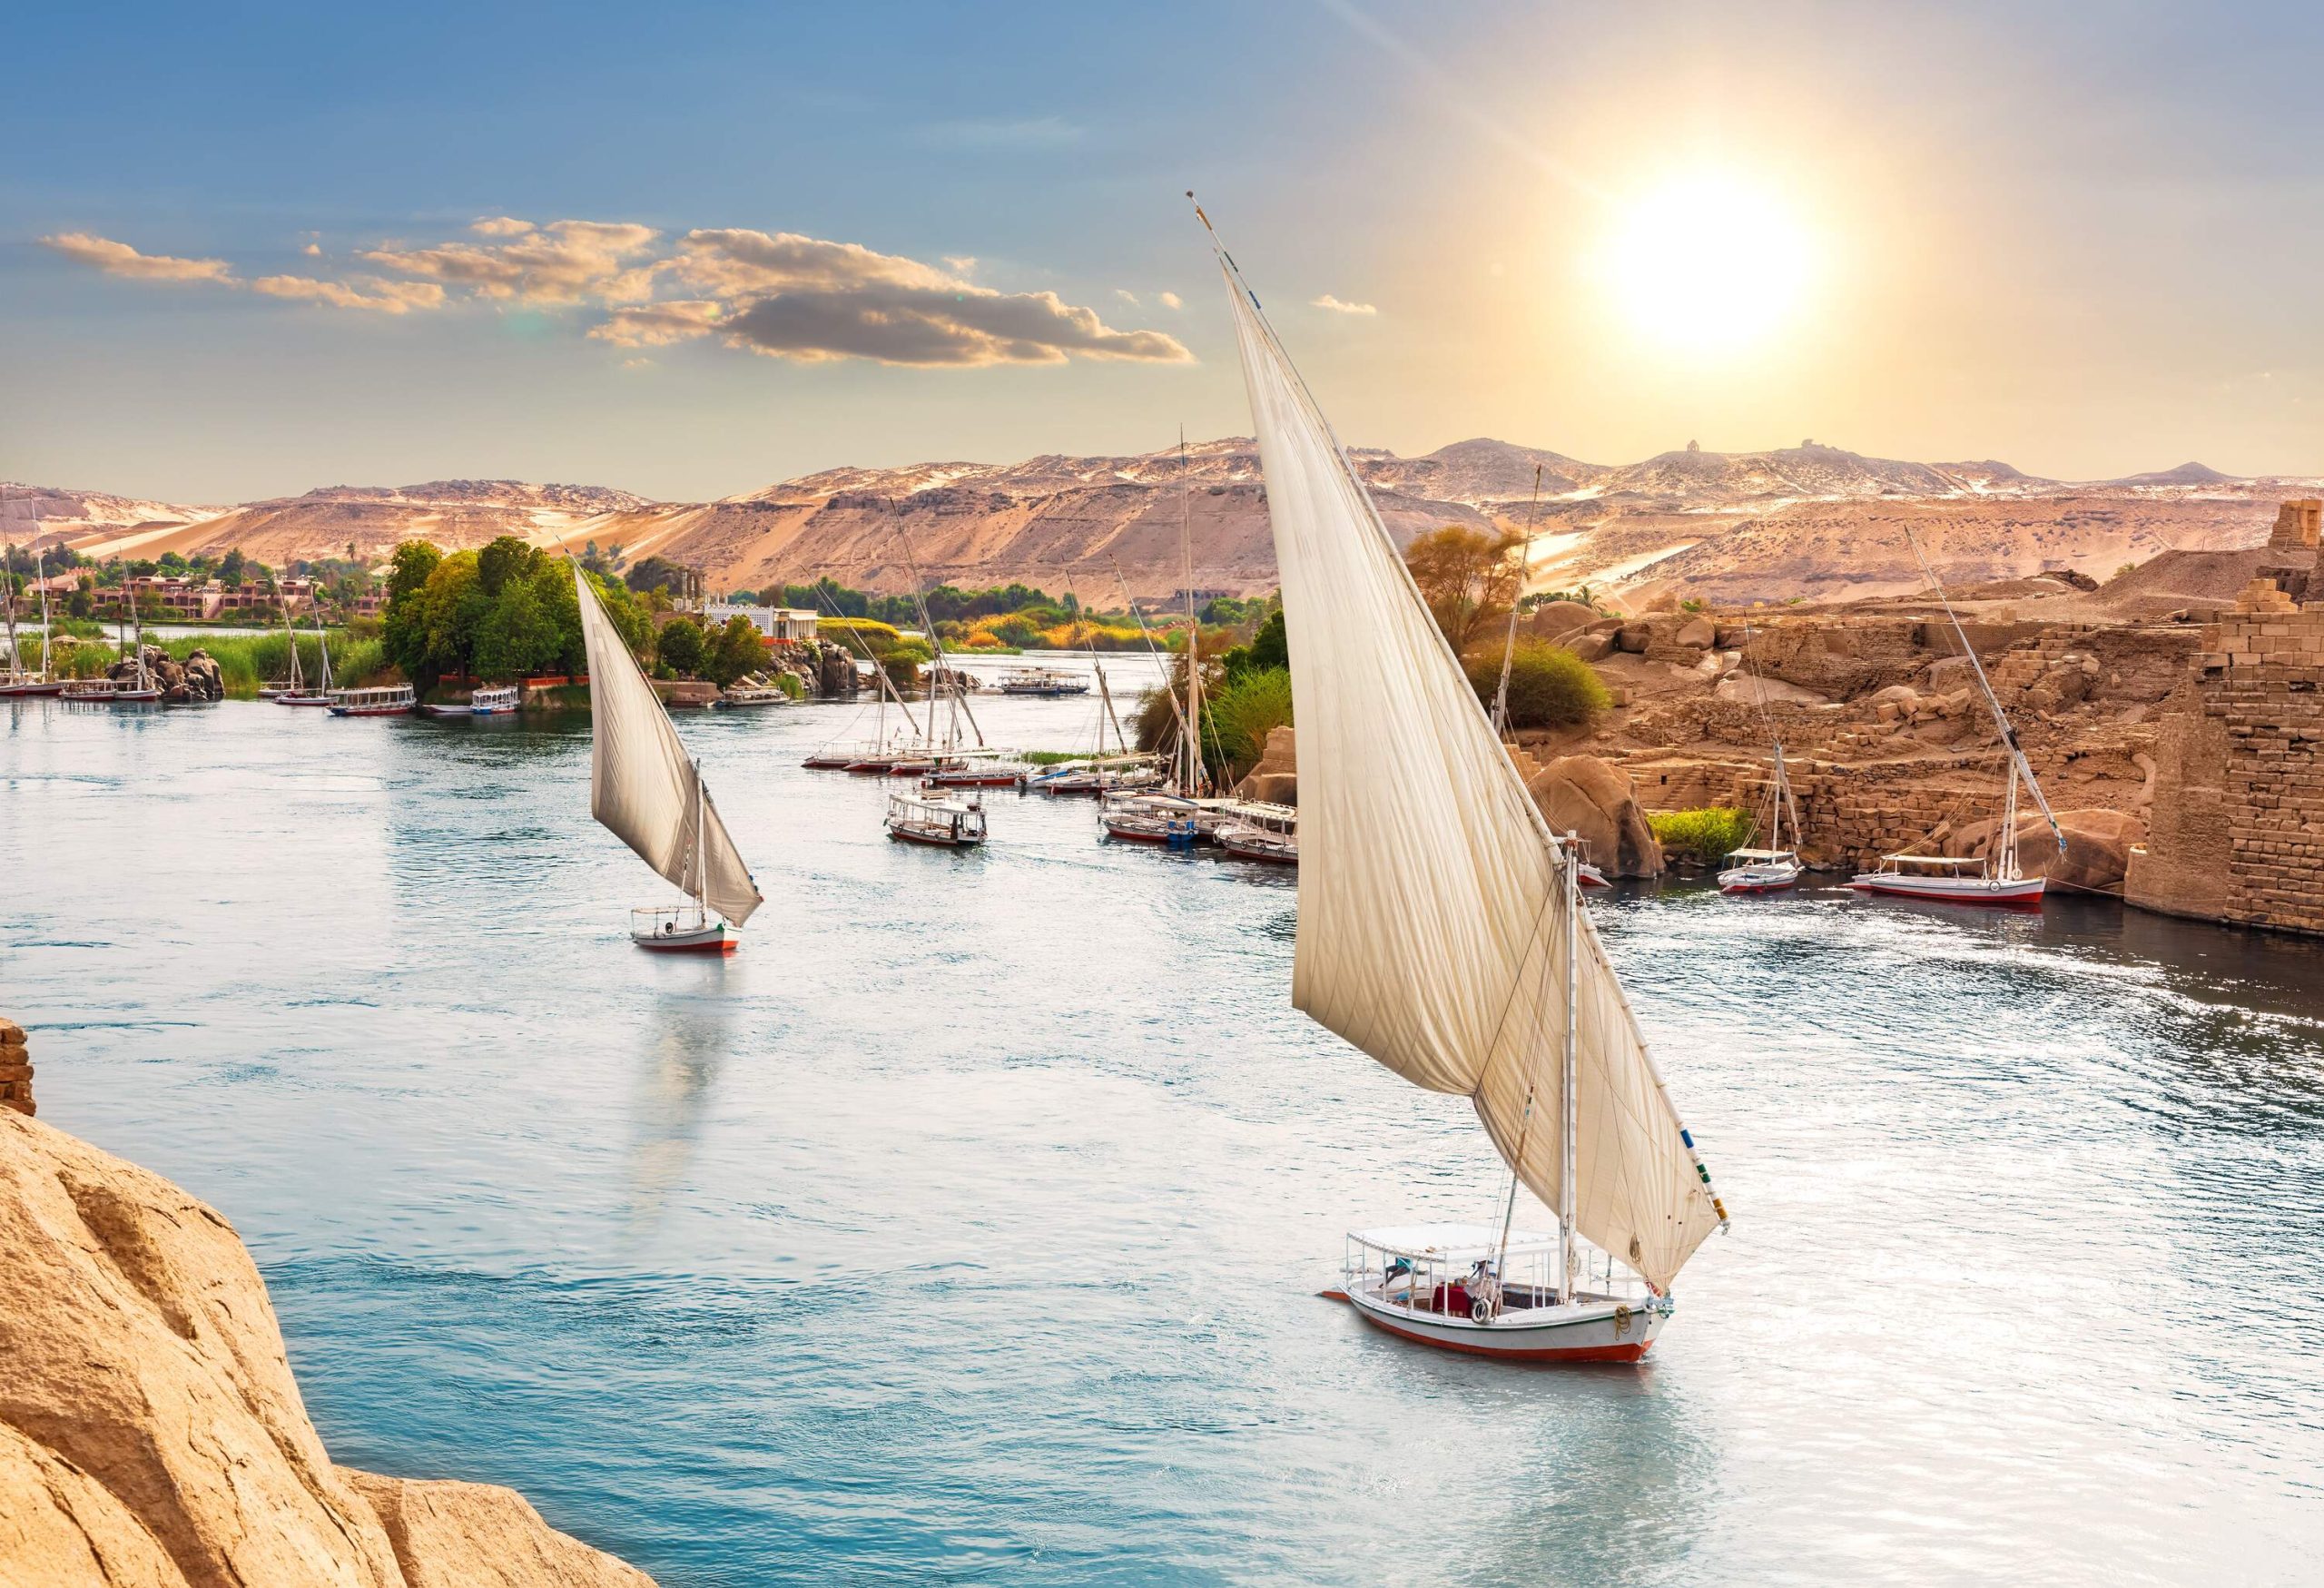
[[1299, 718], [1292, 1002], [1473, 1100], [1564, 1204], [1566, 956], [1580, 953], [1573, 1225], [1657, 1290], [1724, 1221], [1559, 846], [1257, 300], [1220, 251], [1283, 572]]

